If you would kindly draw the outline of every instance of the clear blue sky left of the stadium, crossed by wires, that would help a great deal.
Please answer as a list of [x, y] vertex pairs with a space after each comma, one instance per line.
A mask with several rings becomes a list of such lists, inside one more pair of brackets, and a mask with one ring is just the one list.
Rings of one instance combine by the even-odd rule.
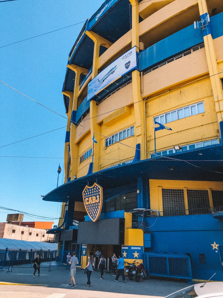
[[[90, 17], [98, 0], [19, 0], [0, 3], [0, 46], [69, 26]], [[68, 54], [83, 24], [0, 48], [0, 80], [66, 116], [62, 96]], [[67, 120], [0, 83], [0, 146], [67, 124]], [[0, 205], [48, 217], [60, 216], [60, 204], [45, 202], [63, 170], [66, 128], [0, 148]], [[63, 173], [59, 175], [59, 185]], [[3, 212], [3, 213], [1, 213]], [[7, 213], [0, 209], [0, 221]], [[10, 212], [9, 212], [10, 213]], [[31, 219], [24, 217], [24, 220]], [[57, 224], [58, 220], [55, 220]]]

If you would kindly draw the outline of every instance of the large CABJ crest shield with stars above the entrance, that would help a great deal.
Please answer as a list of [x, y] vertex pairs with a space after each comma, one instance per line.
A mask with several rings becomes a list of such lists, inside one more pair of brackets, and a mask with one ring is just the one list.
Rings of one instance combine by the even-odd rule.
[[103, 204], [103, 188], [96, 182], [86, 185], [83, 192], [84, 207], [92, 221], [97, 221]]

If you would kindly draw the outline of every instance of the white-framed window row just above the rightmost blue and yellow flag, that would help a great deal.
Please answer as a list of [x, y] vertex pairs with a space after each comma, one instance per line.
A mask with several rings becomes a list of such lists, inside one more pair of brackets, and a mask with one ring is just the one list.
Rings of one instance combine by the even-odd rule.
[[186, 118], [189, 116], [193, 116], [196, 114], [204, 113], [204, 102], [196, 103], [193, 105], [188, 105], [184, 108], [176, 109], [174, 111], [162, 114], [160, 116], [154, 117], [154, 121], [159, 122], [161, 124], [165, 124], [168, 122], [172, 122], [178, 119]]

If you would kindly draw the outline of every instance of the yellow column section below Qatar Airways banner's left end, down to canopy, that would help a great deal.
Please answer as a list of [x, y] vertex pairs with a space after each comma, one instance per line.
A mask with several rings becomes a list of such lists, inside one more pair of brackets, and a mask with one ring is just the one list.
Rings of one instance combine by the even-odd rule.
[[[101, 140], [101, 127], [97, 124], [97, 110], [98, 107], [96, 105], [96, 101], [92, 100], [90, 102], [90, 129], [91, 129], [91, 139], [93, 139], [93, 135], [95, 132], [95, 139], [98, 143], [94, 144], [94, 165], [92, 169], [92, 173], [99, 171], [99, 156], [100, 156], [100, 140]], [[93, 141], [92, 141], [93, 144]], [[92, 153], [93, 154], [93, 153]]]

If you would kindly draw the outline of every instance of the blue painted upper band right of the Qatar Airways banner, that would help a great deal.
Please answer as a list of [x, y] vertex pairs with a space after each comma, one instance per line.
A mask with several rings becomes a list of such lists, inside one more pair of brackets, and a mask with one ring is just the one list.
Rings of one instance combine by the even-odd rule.
[[[221, 24], [223, 22], [223, 13], [214, 15], [210, 19], [213, 38], [222, 36], [223, 26], [221, 26]], [[139, 69], [142, 71], [150, 68], [203, 41], [201, 29], [194, 29], [194, 24], [192, 24], [140, 52]]]

